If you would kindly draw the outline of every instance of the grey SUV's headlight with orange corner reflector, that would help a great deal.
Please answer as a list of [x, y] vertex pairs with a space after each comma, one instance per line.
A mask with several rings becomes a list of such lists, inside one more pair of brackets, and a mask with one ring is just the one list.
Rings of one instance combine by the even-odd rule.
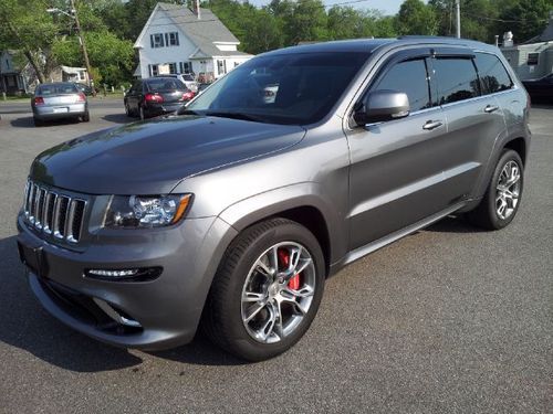
[[104, 227], [160, 227], [177, 223], [191, 203], [191, 194], [113, 195], [107, 204]]

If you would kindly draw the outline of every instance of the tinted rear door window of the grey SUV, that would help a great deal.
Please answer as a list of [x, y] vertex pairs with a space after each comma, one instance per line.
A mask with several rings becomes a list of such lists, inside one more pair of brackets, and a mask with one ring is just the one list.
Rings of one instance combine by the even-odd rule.
[[472, 61], [458, 57], [438, 57], [432, 61], [438, 83], [438, 104], [469, 99], [480, 94], [477, 71]]

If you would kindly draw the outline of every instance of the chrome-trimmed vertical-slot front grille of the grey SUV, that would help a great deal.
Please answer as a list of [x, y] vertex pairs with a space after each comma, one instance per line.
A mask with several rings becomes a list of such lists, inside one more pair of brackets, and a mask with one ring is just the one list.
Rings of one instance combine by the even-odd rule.
[[86, 200], [62, 194], [32, 181], [27, 182], [23, 203], [27, 222], [54, 240], [79, 242], [85, 208]]

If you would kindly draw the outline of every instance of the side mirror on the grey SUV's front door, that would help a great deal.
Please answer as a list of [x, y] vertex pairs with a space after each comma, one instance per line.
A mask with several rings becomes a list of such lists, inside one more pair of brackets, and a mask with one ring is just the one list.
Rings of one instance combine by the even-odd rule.
[[353, 118], [357, 125], [404, 118], [409, 115], [407, 94], [396, 91], [369, 92]]

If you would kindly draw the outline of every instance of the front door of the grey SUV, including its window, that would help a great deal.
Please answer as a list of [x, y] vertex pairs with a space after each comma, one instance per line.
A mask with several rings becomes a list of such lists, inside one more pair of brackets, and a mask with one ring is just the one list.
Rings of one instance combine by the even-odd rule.
[[392, 56], [366, 91], [405, 92], [407, 117], [346, 131], [351, 250], [455, 202], [444, 197], [442, 171], [451, 148], [442, 109], [430, 95], [429, 56], [430, 50]]

